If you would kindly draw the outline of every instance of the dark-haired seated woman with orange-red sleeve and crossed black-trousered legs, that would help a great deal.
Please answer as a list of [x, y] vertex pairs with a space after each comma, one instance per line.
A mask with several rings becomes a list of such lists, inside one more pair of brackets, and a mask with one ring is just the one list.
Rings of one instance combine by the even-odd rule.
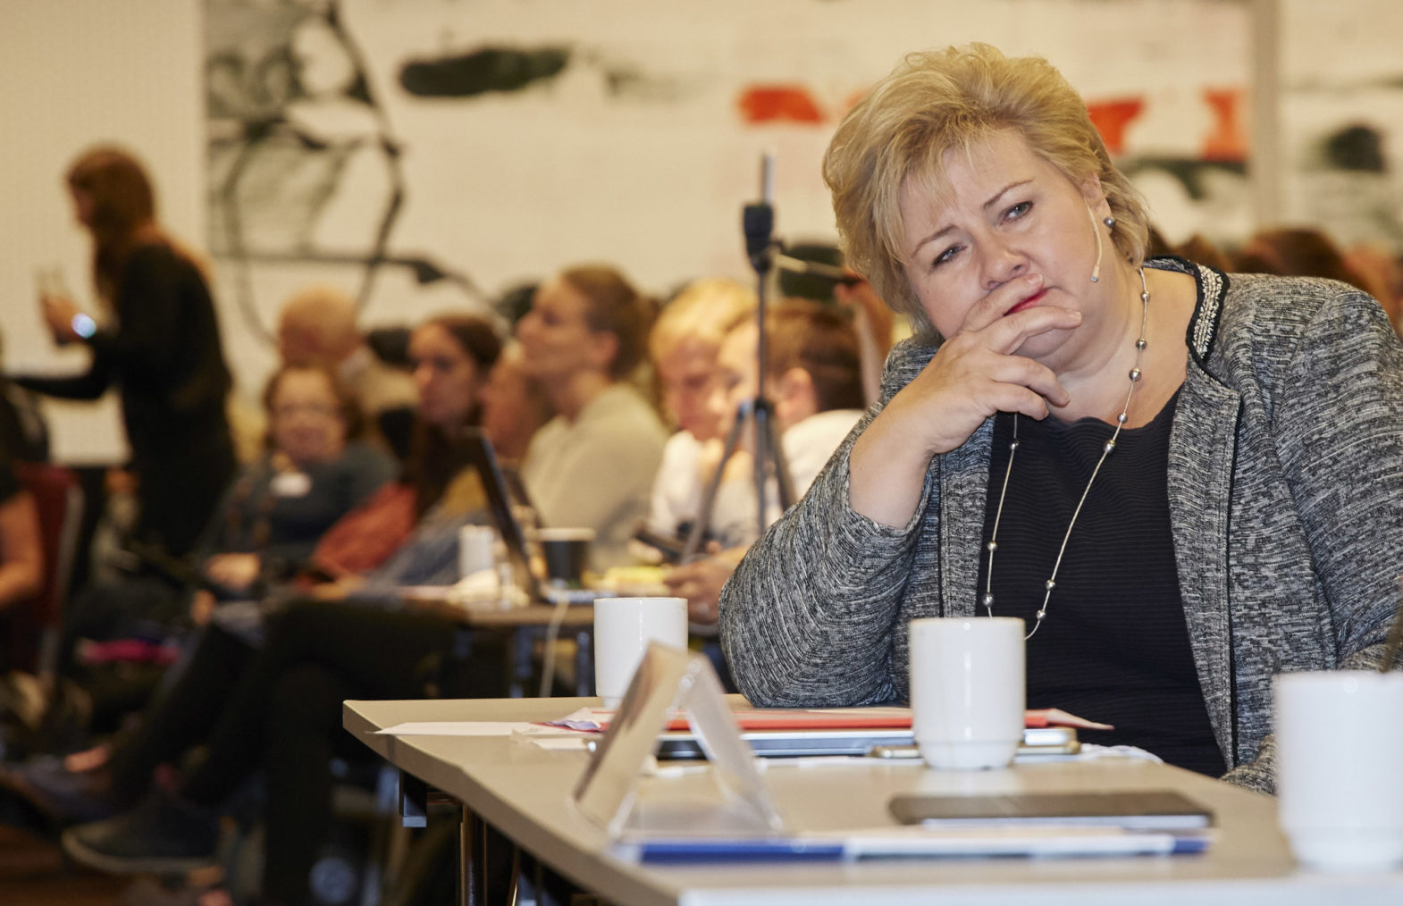
[[[264, 893], [279, 903], [307, 900], [309, 871], [331, 820], [327, 764], [342, 741], [340, 701], [422, 694], [424, 663], [446, 656], [455, 642], [449, 617], [394, 607], [400, 586], [456, 581], [457, 532], [485, 518], [478, 480], [457, 443], [462, 429], [490, 417], [506, 425], [526, 415], [491, 412], [498, 400], [480, 394], [499, 358], [498, 339], [481, 318], [432, 318], [412, 332], [408, 349], [418, 422], [404, 475], [323, 537], [295, 589], [264, 599], [265, 644], [222, 620], [239, 606], [222, 604], [136, 732], [111, 749], [4, 774], [58, 820], [118, 812], [65, 834], [81, 861], [108, 871], [206, 864], [219, 806], [262, 767], [272, 791]], [[397, 548], [394, 539], [403, 539]], [[323, 582], [309, 586], [314, 579]], [[307, 593], [318, 600], [296, 597]], [[498, 661], [478, 661], [473, 669], [480, 675], [501, 676]], [[279, 693], [283, 679], [293, 684], [286, 694]], [[330, 697], [318, 694], [327, 687]], [[153, 791], [156, 767], [199, 743], [206, 759], [184, 771], [174, 791]]]

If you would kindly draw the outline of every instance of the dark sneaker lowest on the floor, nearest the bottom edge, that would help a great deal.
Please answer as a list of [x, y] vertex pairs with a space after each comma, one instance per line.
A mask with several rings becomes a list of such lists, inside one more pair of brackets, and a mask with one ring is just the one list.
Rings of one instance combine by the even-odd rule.
[[111, 874], [182, 874], [215, 861], [219, 816], [156, 790], [130, 812], [63, 832], [74, 861]]

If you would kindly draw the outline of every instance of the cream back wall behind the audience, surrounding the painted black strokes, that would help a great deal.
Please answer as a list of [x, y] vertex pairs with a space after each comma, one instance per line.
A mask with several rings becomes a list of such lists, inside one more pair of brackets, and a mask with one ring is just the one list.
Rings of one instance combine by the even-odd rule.
[[[1278, 3], [1282, 15], [1282, 83], [1294, 93], [1282, 101], [1288, 133], [1319, 130], [1327, 116], [1316, 108], [1345, 109], [1351, 84], [1383, 86], [1396, 76], [1395, 38], [1403, 27], [1396, 0], [1257, 1]], [[52, 348], [34, 303], [35, 268], [51, 264], [63, 266], [80, 300], [91, 300], [87, 241], [62, 185], [83, 147], [102, 140], [132, 147], [156, 175], [167, 226], [208, 245], [205, 3], [0, 0], [7, 370], [83, 366], [81, 352]], [[208, 8], [226, 15], [247, 7], [217, 0]], [[1204, 130], [1201, 88], [1242, 86], [1250, 76], [1251, 8], [1226, 0], [342, 0], [390, 126], [405, 143], [411, 192], [390, 251], [432, 254], [488, 292], [586, 258], [616, 261], [654, 292], [697, 273], [748, 276], [738, 212], [755, 194], [756, 158], [767, 147], [779, 151], [780, 231], [831, 236], [818, 157], [836, 112], [909, 49], [984, 39], [1042, 53], [1089, 100], [1149, 100], [1128, 137], [1136, 151], [1191, 156]], [[212, 25], [222, 25], [219, 15], [210, 13]], [[398, 88], [397, 62], [488, 41], [568, 41], [585, 50], [575, 58], [584, 63], [516, 95], [425, 101]], [[605, 98], [603, 65], [620, 60], [671, 80], [683, 101], [650, 107]], [[732, 115], [735, 87], [765, 80], [805, 84], [835, 118], [744, 128]], [[1296, 147], [1291, 135], [1281, 139], [1287, 149]], [[1298, 161], [1292, 150], [1285, 168]], [[324, 248], [354, 250], [345, 236], [356, 205], [383, 201], [373, 178], [351, 182], [328, 209], [316, 237]], [[1299, 213], [1298, 192], [1288, 180], [1287, 208]], [[1156, 203], [1166, 222], [1181, 216], [1170, 202]], [[217, 268], [216, 290], [226, 348], [248, 393], [272, 363], [251, 323], [267, 325], [296, 283], [338, 273], [257, 269], [257, 310], [250, 311], [234, 302], [231, 271]], [[462, 295], [421, 293], [391, 273], [380, 278], [368, 316], [412, 321], [446, 303], [463, 304]], [[66, 405], [55, 417], [60, 459], [122, 454], [115, 407]]]

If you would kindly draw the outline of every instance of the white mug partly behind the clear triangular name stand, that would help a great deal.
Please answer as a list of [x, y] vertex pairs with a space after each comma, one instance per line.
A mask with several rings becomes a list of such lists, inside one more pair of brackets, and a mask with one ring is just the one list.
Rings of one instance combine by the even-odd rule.
[[687, 647], [685, 597], [595, 599], [595, 694], [617, 708], [648, 642]]

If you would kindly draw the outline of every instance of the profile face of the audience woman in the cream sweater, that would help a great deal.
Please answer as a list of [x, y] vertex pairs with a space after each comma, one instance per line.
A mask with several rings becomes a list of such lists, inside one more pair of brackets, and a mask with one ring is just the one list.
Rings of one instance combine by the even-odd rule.
[[565, 280], [542, 285], [516, 324], [526, 373], [546, 384], [584, 373], [607, 373], [617, 338], [589, 328], [589, 303]]

